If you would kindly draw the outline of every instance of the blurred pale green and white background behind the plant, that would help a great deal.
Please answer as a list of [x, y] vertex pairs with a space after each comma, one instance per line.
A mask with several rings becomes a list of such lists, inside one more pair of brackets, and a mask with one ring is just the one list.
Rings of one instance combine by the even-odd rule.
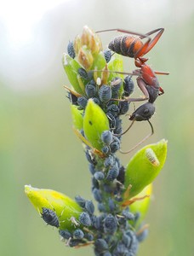
[[[4, 3], [3, 3], [4, 2]], [[157, 99], [149, 142], [168, 139], [168, 160], [154, 183], [146, 222], [150, 236], [140, 256], [194, 255], [194, 2], [190, 0], [58, 0], [0, 3], [0, 254], [93, 255], [60, 242], [24, 194], [24, 185], [92, 199], [83, 148], [71, 130], [68, 84], [61, 55], [88, 25], [149, 32], [165, 27], [148, 54], [165, 94]], [[117, 32], [101, 34], [104, 47]], [[134, 61], [125, 58], [126, 71]], [[136, 91], [137, 95], [140, 91]], [[136, 107], [138, 104], [136, 104]], [[130, 113], [133, 111], [131, 108]], [[128, 125], [127, 117], [123, 117]], [[135, 124], [123, 148], [150, 128]], [[121, 155], [127, 164], [131, 155]]]

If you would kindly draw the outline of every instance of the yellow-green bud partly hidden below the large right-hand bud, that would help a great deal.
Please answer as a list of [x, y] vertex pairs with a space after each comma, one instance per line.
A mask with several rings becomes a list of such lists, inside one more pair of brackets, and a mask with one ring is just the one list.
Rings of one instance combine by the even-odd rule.
[[148, 208], [150, 206], [150, 201], [151, 201], [151, 193], [152, 193], [152, 184], [149, 184], [148, 186], [145, 187], [145, 189], [143, 189], [140, 192], [140, 194], [137, 195], [137, 197], [143, 198], [145, 195], [149, 195], [149, 196], [145, 197], [140, 201], [134, 201], [134, 203], [130, 205], [130, 212], [133, 212], [133, 213], [140, 212], [140, 218], [138, 219], [137, 223], [135, 223], [137, 227], [144, 220], [145, 214], [148, 211]]

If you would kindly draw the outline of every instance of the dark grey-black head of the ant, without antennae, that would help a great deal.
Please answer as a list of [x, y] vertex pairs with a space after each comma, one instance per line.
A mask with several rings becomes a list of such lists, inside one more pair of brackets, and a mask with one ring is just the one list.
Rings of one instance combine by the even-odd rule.
[[129, 120], [144, 121], [151, 119], [151, 116], [155, 113], [155, 107], [151, 102], [146, 102], [137, 108], [130, 116]]

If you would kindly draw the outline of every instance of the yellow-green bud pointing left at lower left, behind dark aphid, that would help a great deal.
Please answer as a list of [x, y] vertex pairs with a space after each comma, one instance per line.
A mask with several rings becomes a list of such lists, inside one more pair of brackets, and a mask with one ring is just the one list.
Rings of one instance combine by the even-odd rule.
[[54, 211], [59, 218], [60, 230], [73, 230], [74, 225], [70, 218], [79, 219], [82, 208], [76, 201], [66, 195], [51, 189], [36, 189], [30, 185], [25, 186], [25, 193], [37, 212], [43, 212], [43, 207]]

